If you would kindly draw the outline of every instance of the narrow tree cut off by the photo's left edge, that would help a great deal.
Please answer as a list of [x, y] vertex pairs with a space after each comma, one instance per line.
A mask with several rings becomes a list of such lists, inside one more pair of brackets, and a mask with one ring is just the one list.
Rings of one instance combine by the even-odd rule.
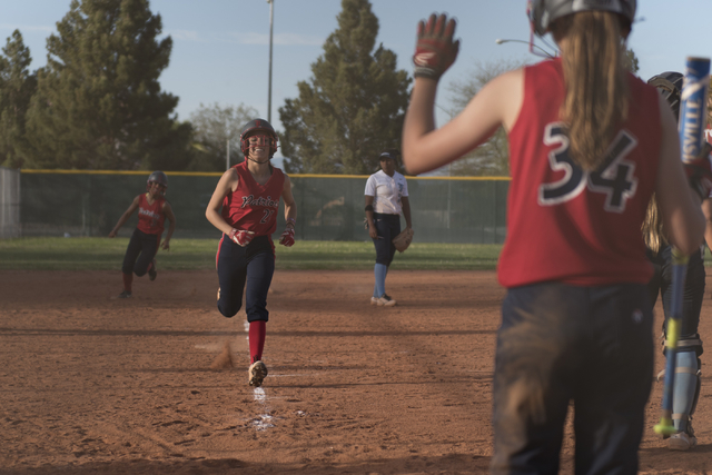
[[37, 89], [37, 75], [29, 71], [32, 57], [14, 30], [0, 56], [0, 165], [20, 168], [29, 144], [24, 118]]

